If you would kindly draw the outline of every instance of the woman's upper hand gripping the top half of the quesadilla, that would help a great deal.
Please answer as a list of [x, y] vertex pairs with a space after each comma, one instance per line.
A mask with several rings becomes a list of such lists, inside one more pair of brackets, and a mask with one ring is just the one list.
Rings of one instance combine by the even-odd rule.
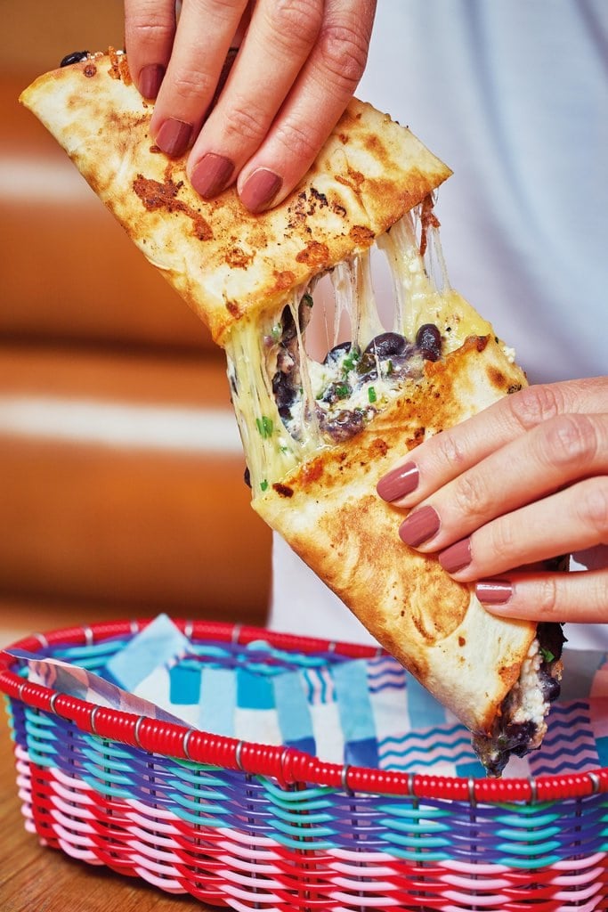
[[376, 0], [183, 0], [176, 21], [175, 0], [125, 0], [131, 75], [157, 98], [154, 140], [170, 156], [191, 148], [205, 199], [236, 181], [252, 212], [276, 205], [352, 97], [375, 11]]

